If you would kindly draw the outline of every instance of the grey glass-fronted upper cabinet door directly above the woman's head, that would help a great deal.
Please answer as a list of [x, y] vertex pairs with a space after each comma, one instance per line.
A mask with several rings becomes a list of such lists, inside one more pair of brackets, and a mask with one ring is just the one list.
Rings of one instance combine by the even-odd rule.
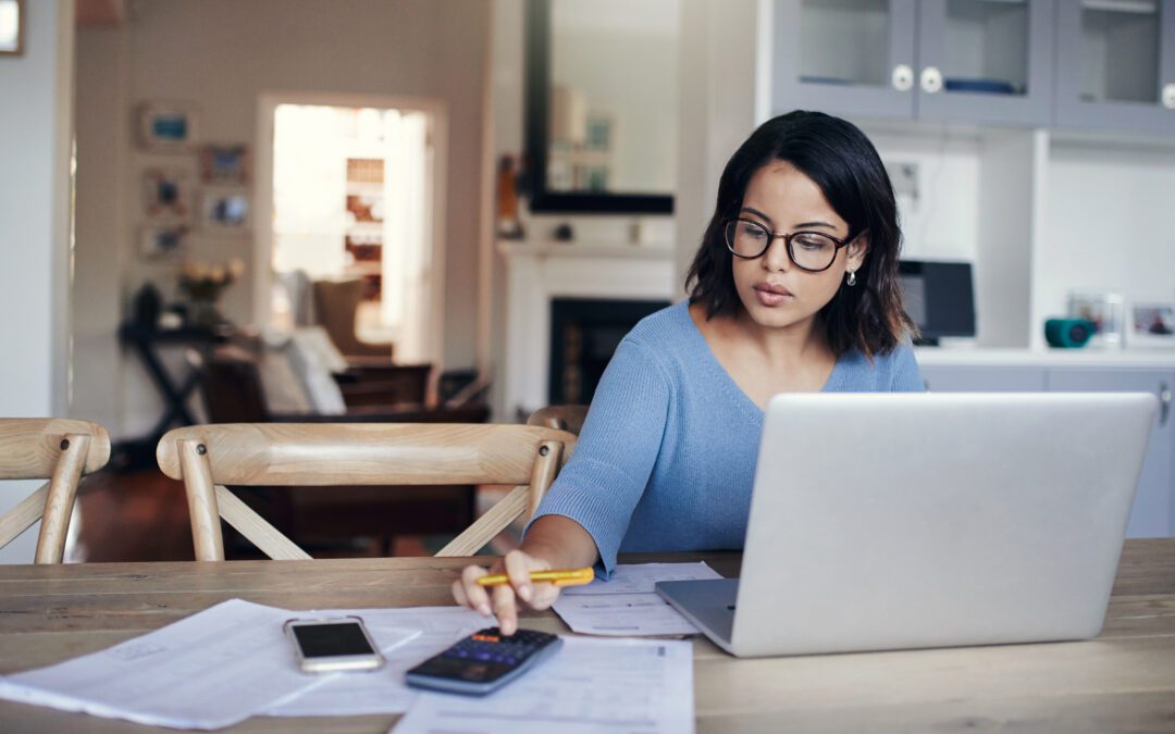
[[776, 114], [914, 117], [915, 0], [776, 0], [772, 11]]

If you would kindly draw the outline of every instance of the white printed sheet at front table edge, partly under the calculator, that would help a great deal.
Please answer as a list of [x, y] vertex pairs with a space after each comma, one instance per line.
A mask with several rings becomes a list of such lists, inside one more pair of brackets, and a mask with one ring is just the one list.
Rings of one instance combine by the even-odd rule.
[[485, 698], [422, 693], [395, 734], [690, 734], [693, 645], [563, 638], [563, 648]]

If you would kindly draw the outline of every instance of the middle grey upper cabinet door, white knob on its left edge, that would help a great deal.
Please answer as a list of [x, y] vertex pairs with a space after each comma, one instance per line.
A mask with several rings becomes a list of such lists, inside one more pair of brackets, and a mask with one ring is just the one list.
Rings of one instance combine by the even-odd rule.
[[1055, 11], [1054, 0], [921, 0], [915, 116], [1048, 126]]

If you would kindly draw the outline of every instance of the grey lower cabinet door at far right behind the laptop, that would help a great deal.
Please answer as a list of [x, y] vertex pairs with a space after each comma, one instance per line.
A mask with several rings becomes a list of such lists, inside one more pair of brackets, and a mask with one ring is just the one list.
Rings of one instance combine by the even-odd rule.
[[1129, 538], [1175, 536], [1175, 419], [1169, 415], [1173, 388], [1175, 372], [1161, 370], [1054, 368], [1048, 372], [1050, 392], [1149, 392], [1166, 403], [1150, 432], [1126, 531]]

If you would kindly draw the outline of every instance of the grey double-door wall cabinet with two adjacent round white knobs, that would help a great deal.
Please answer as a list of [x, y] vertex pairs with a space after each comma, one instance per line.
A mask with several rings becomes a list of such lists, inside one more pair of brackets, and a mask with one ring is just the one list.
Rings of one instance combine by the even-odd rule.
[[773, 105], [1047, 126], [1054, 0], [777, 0]]

